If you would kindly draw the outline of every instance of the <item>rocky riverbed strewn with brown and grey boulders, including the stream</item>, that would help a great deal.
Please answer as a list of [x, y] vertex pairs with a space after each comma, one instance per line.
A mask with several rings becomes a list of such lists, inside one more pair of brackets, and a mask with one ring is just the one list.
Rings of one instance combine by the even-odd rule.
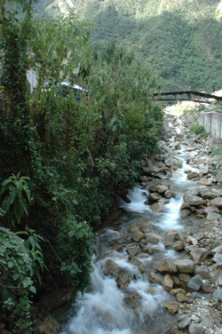
[[[118, 228], [114, 225], [108, 233], [98, 235], [95, 252], [99, 267], [95, 269], [89, 295], [86, 292], [91, 306], [81, 299], [82, 311], [75, 310], [75, 320], [70, 320], [62, 333], [98, 334], [92, 327], [97, 317], [95, 326], [100, 327], [95, 328], [100, 330], [103, 326], [107, 330], [99, 333], [222, 334], [222, 159], [210, 155], [218, 139], [203, 139], [190, 133], [189, 127], [194, 122], [194, 114], [179, 118], [164, 115], [160, 142], [163, 154], [155, 155], [153, 161], [144, 161], [139, 188], [144, 195], [143, 210], [150, 213], [151, 219], [135, 216], [128, 225], [124, 223]], [[181, 150], [186, 156], [185, 163], [178, 157]], [[180, 177], [182, 167], [184, 182], [190, 187], [183, 192], [180, 184], [177, 186], [182, 201], [175, 205], [184, 225], [181, 228], [170, 216], [169, 224], [162, 227], [165, 233], [160, 233], [152, 217], [163, 217], [169, 211], [172, 199], [177, 197], [170, 179]], [[119, 198], [118, 201], [123, 210], [131, 205]], [[108, 257], [101, 254], [104, 249], [99, 250], [102, 242], [106, 244]], [[112, 285], [111, 290], [109, 284], [115, 287]], [[109, 289], [107, 294], [98, 295], [106, 289]], [[108, 303], [112, 294], [111, 307]], [[48, 298], [49, 307], [52, 298]], [[47, 308], [47, 297], [45, 303], [42, 300], [44, 304]], [[91, 331], [82, 327], [87, 321]], [[125, 322], [130, 323], [129, 330]], [[50, 317], [36, 324], [38, 334], [59, 332], [59, 323]]]

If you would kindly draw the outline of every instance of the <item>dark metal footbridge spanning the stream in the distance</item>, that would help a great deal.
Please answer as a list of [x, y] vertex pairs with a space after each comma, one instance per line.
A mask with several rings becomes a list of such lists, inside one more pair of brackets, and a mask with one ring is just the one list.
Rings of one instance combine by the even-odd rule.
[[159, 91], [153, 93], [155, 101], [194, 101], [199, 103], [222, 103], [222, 96], [216, 96], [213, 93], [197, 90], [179, 90]]

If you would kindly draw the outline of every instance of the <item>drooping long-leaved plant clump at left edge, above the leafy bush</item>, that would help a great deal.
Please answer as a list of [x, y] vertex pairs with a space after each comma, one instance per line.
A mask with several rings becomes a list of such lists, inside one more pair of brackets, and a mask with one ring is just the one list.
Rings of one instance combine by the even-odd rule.
[[31, 194], [27, 183], [28, 178], [12, 174], [2, 183], [0, 196], [4, 195], [2, 209], [12, 221], [13, 227], [20, 224], [20, 219], [28, 216], [28, 203], [31, 202]]

